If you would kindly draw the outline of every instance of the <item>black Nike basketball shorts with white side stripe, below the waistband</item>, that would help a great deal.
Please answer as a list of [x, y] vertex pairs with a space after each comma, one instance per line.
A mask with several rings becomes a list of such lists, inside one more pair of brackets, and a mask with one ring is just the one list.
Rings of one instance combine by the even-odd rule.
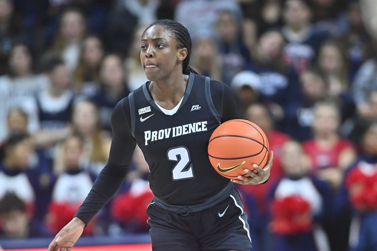
[[224, 201], [186, 216], [153, 200], [147, 207], [153, 251], [249, 251], [247, 215], [237, 190]]

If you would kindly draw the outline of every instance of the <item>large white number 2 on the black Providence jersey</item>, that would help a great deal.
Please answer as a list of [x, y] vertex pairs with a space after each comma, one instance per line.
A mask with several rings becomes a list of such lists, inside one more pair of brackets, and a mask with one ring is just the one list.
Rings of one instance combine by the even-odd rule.
[[173, 180], [185, 180], [194, 178], [194, 171], [190, 159], [189, 149], [184, 146], [177, 146], [167, 150], [167, 158], [177, 161], [172, 169]]

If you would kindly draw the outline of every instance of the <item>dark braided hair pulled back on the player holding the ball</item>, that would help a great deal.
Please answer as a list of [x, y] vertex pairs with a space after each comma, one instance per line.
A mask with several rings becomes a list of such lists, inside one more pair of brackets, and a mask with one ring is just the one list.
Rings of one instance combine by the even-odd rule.
[[150, 24], [147, 27], [147, 29], [144, 30], [143, 35], [152, 26], [164, 27], [164, 29], [170, 31], [171, 35], [176, 39], [178, 49], [182, 49], [182, 48], [187, 49], [187, 56], [183, 60], [183, 65], [182, 65], [183, 73], [189, 74], [190, 72], [192, 72], [192, 73], [199, 74], [193, 68], [189, 66], [190, 55], [191, 55], [191, 37], [186, 27], [184, 27], [181, 23], [178, 23], [177, 21], [174, 21], [174, 20], [161, 19]]

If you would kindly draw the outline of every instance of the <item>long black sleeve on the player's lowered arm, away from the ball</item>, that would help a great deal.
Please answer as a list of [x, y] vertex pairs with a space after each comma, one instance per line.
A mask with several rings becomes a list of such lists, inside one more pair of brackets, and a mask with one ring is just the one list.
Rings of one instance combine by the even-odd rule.
[[86, 225], [118, 190], [128, 172], [136, 146], [136, 140], [131, 134], [130, 123], [128, 98], [124, 98], [115, 106], [111, 115], [113, 139], [109, 160], [74, 216], [81, 219]]

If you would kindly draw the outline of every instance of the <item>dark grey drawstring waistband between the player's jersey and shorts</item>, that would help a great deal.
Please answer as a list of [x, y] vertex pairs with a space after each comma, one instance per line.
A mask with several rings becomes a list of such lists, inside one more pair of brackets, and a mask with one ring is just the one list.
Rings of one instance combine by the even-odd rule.
[[182, 214], [183, 216], [185, 216], [189, 214], [190, 212], [202, 211], [204, 209], [210, 208], [218, 204], [219, 202], [228, 198], [231, 192], [233, 191], [233, 189], [234, 189], [234, 186], [230, 182], [229, 185], [225, 187], [220, 193], [208, 199], [207, 201], [204, 201], [203, 203], [197, 204], [197, 205], [172, 205], [156, 197], [153, 198], [153, 201], [155, 202], [156, 205], [158, 205], [161, 208], [164, 208], [165, 210], [172, 211], [174, 213]]

